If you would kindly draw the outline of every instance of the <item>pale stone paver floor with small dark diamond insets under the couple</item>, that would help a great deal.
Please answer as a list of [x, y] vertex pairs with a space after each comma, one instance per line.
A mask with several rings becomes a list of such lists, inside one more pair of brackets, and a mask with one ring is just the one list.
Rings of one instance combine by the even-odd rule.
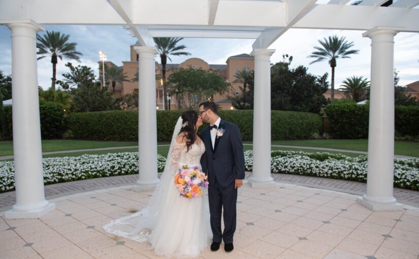
[[[106, 233], [102, 225], [145, 206], [151, 191], [133, 185], [50, 200], [40, 219], [5, 219], [0, 213], [0, 258], [165, 258]], [[200, 258], [412, 258], [419, 257], [419, 208], [373, 212], [356, 195], [278, 183], [239, 189], [235, 250], [209, 249]]]

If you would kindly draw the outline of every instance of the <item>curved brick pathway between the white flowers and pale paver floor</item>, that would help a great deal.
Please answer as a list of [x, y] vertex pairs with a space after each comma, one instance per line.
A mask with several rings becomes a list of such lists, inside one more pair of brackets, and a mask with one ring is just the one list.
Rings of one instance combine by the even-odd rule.
[[[246, 178], [249, 177], [250, 174], [251, 173], [247, 172]], [[366, 183], [319, 178], [312, 176], [272, 174], [272, 178], [274, 178], [274, 180], [277, 182], [293, 183], [309, 187], [331, 189], [348, 192], [355, 195], [363, 195], [367, 189]], [[103, 189], [111, 186], [133, 184], [137, 180], [138, 175], [122, 175], [50, 184], [45, 185], [45, 197], [46, 199], [53, 199], [83, 191]], [[394, 188], [394, 197], [400, 203], [411, 205], [414, 207], [419, 207], [419, 191]], [[15, 191], [0, 193], [0, 211], [9, 209], [15, 202]]]

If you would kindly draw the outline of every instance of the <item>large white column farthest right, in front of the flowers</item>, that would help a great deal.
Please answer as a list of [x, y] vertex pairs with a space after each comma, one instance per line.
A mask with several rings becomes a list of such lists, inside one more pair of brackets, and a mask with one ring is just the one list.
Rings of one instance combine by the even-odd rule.
[[371, 210], [402, 210], [393, 197], [394, 177], [394, 36], [374, 28], [371, 39], [371, 88], [368, 132], [367, 193], [358, 203]]

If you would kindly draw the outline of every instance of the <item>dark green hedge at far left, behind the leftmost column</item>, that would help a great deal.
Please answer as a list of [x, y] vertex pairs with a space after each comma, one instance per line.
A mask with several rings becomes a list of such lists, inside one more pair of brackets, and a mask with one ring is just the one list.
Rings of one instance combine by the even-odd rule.
[[[13, 138], [12, 106], [5, 107], [6, 120], [9, 126], [8, 139]], [[42, 139], [61, 139], [65, 132], [64, 112], [61, 106], [54, 102], [39, 102]]]

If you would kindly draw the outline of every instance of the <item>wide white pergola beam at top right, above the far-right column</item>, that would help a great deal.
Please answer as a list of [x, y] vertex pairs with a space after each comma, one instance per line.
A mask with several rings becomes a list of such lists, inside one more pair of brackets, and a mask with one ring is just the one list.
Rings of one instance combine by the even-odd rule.
[[369, 30], [377, 26], [419, 32], [419, 9], [317, 5], [293, 28]]

